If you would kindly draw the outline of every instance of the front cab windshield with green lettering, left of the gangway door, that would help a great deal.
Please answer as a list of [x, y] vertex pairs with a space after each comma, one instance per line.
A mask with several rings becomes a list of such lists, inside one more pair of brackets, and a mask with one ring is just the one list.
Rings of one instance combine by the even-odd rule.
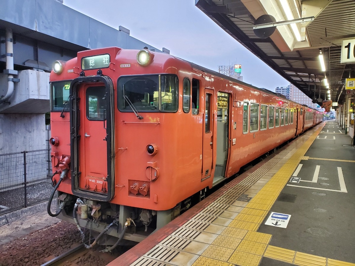
[[51, 83], [50, 106], [52, 111], [62, 111], [64, 105], [69, 103], [67, 101], [69, 101], [70, 82], [71, 81], [62, 81]]

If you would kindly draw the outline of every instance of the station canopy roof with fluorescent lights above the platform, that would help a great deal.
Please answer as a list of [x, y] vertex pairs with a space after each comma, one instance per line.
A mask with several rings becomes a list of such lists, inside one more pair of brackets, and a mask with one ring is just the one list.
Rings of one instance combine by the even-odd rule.
[[[343, 40], [353, 40], [345, 51], [350, 60], [355, 57], [354, 0], [196, 0], [196, 6], [318, 104], [344, 102], [345, 78], [355, 78], [355, 62], [340, 61]], [[310, 21], [277, 25], [274, 32], [270, 27], [253, 29], [299, 18]]]

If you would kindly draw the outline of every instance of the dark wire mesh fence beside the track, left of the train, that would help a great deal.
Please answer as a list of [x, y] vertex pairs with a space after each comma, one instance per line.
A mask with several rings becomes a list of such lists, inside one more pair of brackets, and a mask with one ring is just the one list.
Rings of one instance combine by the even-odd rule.
[[50, 149], [0, 154], [0, 214], [49, 199]]

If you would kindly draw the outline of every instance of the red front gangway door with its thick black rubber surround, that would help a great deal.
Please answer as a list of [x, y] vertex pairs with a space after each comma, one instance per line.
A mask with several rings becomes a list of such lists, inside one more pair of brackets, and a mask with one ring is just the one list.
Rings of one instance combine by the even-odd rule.
[[105, 201], [113, 195], [108, 87], [105, 83], [78, 83], [71, 111], [73, 193]]

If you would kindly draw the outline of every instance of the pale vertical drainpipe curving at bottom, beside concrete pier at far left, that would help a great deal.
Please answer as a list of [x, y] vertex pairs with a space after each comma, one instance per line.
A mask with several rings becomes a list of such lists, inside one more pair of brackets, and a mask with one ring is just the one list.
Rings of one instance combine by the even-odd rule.
[[[13, 38], [12, 29], [6, 28], [5, 46], [6, 46], [6, 70], [13, 70]], [[9, 100], [13, 93], [13, 75], [9, 74], [7, 77], [7, 92], [6, 95], [1, 95], [0, 104]]]

